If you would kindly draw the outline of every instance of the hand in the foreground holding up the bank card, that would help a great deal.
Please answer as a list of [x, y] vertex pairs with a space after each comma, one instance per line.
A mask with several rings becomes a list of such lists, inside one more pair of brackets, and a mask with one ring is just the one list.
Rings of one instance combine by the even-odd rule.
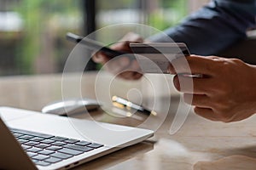
[[[212, 121], [236, 122], [256, 112], [256, 66], [215, 56], [191, 55], [186, 59], [190, 70], [181, 59], [175, 59], [170, 73], [178, 75], [174, 85], [183, 92], [185, 102], [195, 105], [196, 114]], [[186, 86], [191, 78], [181, 76], [183, 73], [203, 77], [194, 77], [191, 88]]]

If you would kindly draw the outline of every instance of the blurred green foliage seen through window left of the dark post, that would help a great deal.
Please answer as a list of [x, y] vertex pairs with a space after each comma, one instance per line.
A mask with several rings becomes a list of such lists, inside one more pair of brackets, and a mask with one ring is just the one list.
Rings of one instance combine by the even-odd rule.
[[45, 43], [42, 40], [45, 31], [59, 27], [61, 23], [53, 21], [55, 18], [67, 15], [79, 17], [79, 1], [22, 0], [15, 7], [15, 11], [21, 14], [24, 21], [22, 42], [19, 47], [20, 56], [16, 58], [16, 62], [19, 63], [21, 74], [32, 74], [34, 61], [42, 52]]

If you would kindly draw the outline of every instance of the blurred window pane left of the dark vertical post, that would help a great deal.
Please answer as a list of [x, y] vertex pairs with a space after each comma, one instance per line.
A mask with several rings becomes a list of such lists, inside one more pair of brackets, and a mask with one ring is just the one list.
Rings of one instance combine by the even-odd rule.
[[73, 48], [67, 31], [81, 30], [79, 1], [1, 0], [0, 74], [58, 72]]

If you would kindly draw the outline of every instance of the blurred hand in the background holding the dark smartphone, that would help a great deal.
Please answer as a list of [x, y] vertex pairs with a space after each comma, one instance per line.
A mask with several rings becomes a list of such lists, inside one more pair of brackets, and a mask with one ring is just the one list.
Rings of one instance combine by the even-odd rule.
[[[125, 37], [123, 37], [119, 42], [113, 44], [111, 48], [114, 50], [131, 53], [131, 48], [129, 46], [131, 42], [143, 42], [143, 38], [130, 32], [126, 34]], [[124, 79], [135, 80], [143, 76], [136, 59], [129, 59], [125, 56], [110, 59], [108, 55], [102, 52], [96, 53], [92, 59], [96, 63], [101, 63], [102, 65], [106, 64], [105, 66], [108, 71], [112, 72], [113, 74], [117, 74], [118, 77]]]

